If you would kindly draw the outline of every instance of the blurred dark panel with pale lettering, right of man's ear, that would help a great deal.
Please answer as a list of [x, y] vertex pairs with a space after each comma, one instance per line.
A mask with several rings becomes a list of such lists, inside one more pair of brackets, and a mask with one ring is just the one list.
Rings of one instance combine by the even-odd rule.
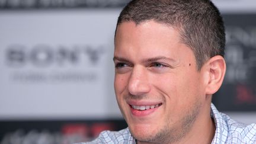
[[229, 14], [224, 20], [227, 71], [213, 103], [222, 111], [256, 111], [256, 14]]

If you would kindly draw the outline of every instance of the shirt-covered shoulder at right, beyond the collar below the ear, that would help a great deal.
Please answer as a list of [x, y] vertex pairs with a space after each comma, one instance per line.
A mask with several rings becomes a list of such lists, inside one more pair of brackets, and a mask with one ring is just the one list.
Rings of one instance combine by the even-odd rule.
[[243, 124], [222, 114], [228, 125], [228, 142], [256, 143], [256, 124]]

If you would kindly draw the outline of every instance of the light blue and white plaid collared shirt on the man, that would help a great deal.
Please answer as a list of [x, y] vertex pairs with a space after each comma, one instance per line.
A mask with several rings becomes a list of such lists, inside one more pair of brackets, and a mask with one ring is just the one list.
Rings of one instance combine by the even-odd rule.
[[[238, 123], [232, 120], [226, 114], [217, 111], [215, 105], [211, 105], [211, 116], [215, 120], [216, 131], [213, 137], [212, 144], [220, 143], [254, 143], [256, 144], [256, 124]], [[87, 143], [123, 143], [135, 144], [136, 140], [133, 138], [129, 129], [123, 129], [119, 132], [103, 131], [97, 139]], [[85, 144], [85, 143], [78, 143]]]

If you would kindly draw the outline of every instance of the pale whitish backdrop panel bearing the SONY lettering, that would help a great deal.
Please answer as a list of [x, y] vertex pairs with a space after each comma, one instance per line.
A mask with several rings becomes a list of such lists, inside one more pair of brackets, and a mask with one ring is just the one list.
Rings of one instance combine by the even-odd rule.
[[1, 11], [0, 119], [118, 117], [111, 57], [119, 11]]

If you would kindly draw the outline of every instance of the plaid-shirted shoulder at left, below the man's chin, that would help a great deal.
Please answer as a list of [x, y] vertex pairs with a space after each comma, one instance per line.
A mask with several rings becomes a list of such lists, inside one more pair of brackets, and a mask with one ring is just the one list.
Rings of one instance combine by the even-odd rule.
[[[100, 133], [100, 135], [92, 140], [91, 142], [87, 143], [133, 143], [133, 137], [130, 134], [128, 128], [113, 132], [109, 130], [105, 130]], [[77, 143], [77, 144], [85, 144], [85, 143]]]

